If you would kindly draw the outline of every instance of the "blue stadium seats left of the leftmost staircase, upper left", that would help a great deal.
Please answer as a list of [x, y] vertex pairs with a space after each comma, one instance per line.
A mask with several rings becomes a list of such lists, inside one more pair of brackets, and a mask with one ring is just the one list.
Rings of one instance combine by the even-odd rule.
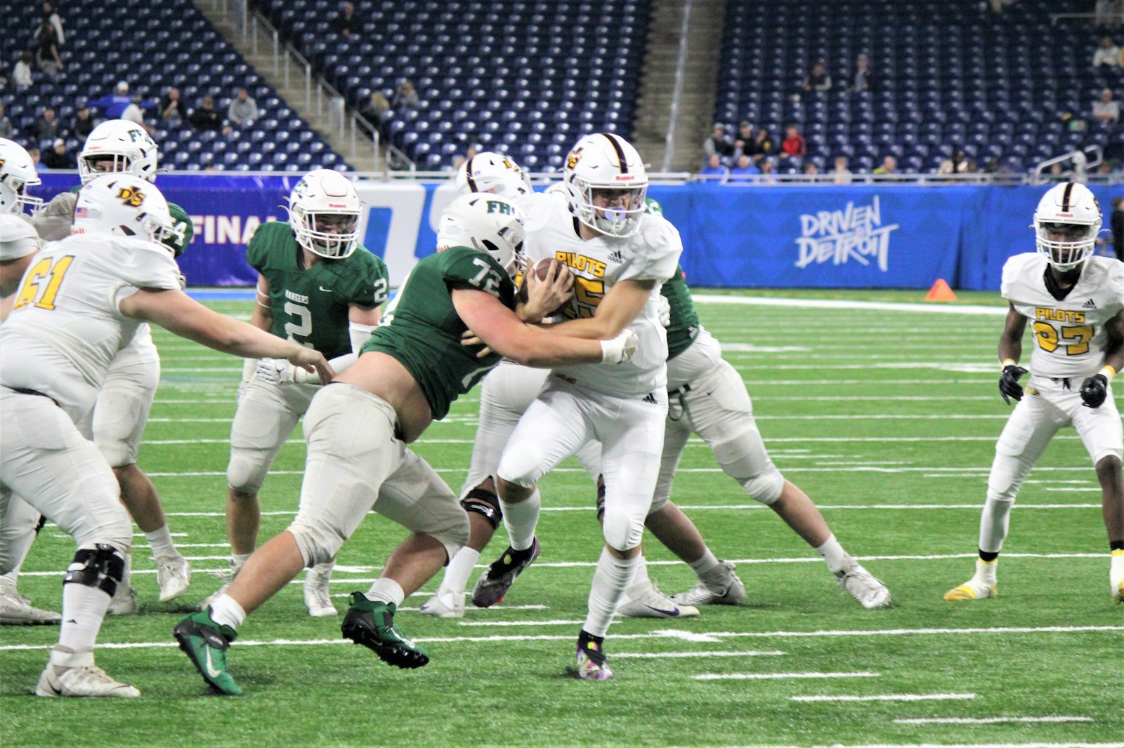
[[[182, 128], [158, 129], [153, 138], [161, 149], [161, 166], [172, 170], [307, 171], [316, 167], [346, 170], [344, 159], [308, 124], [278, 98], [277, 91], [215, 30], [190, 2], [176, 0], [67, 0], [57, 3], [65, 44], [60, 47], [64, 71], [56, 79], [36, 72], [27, 91], [9, 84], [0, 93], [6, 115], [17, 128], [16, 139], [26, 147], [31, 125], [43, 107], [51, 106], [70, 126], [79, 99], [110, 94], [117, 81], [128, 81], [130, 93], [158, 101], [169, 86], [180, 89], [189, 108], [203, 95], [215, 98], [225, 115], [239, 86], [257, 101], [261, 118], [230, 135]], [[31, 48], [40, 3], [2, 0], [6, 72], [21, 49]], [[8, 58], [10, 57], [10, 60]], [[160, 127], [156, 112], [146, 120]], [[81, 140], [69, 138], [76, 155]]]

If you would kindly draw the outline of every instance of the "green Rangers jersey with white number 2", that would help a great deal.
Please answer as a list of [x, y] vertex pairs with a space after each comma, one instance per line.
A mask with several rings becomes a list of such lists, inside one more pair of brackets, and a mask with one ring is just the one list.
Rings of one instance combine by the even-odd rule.
[[246, 262], [270, 284], [270, 331], [326, 358], [351, 353], [348, 308], [373, 309], [387, 300], [387, 265], [363, 247], [311, 267], [302, 267], [300, 257], [300, 245], [285, 221], [262, 224], [246, 247]]

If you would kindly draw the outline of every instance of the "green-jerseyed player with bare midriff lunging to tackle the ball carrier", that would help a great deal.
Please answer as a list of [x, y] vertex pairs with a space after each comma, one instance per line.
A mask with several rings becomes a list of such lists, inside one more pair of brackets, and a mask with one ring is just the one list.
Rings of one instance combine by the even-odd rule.
[[[175, 627], [180, 648], [218, 693], [242, 688], [226, 650], [246, 615], [301, 568], [333, 558], [372, 510], [411, 535], [391, 553], [366, 594], [353, 592], [343, 636], [398, 667], [428, 655], [395, 626], [406, 595], [456, 554], [469, 520], [444, 481], [406, 445], [508, 356], [532, 366], [628, 361], [636, 336], [578, 339], [524, 323], [510, 273], [524, 239], [522, 213], [491, 194], [455, 199], [442, 213], [437, 252], [410, 272], [359, 361], [312, 398], [300, 509], [260, 547], [227, 592]], [[470, 328], [495, 353], [464, 346]]]

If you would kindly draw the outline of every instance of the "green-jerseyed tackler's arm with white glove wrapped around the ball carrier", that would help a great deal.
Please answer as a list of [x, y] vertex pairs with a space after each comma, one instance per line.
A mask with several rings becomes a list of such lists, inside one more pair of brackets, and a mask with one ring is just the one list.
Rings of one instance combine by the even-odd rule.
[[454, 286], [451, 295], [457, 316], [477, 337], [499, 355], [524, 366], [620, 363], [632, 358], [636, 350], [635, 336], [628, 340], [628, 334], [614, 334], [609, 336], [611, 340], [550, 335], [545, 328], [525, 325], [496, 297], [468, 284]]

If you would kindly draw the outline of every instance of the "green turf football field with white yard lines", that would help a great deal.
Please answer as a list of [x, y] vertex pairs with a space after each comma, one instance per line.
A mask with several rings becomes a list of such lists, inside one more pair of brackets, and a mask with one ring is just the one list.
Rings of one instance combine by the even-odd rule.
[[[1124, 605], [1109, 596], [1100, 493], [1072, 430], [1051, 445], [1012, 513], [1001, 596], [942, 600], [973, 571], [994, 441], [1009, 412], [996, 387], [998, 295], [962, 294], [980, 304], [961, 304], [963, 313], [823, 303], [919, 302], [916, 292], [804, 295], [821, 301], [726, 298], [700, 300], [699, 310], [745, 377], [773, 459], [890, 587], [891, 609], [867, 611], [841, 594], [818, 556], [692, 440], [673, 498], [737, 564], [749, 598], [696, 619], [618, 620], [606, 641], [614, 679], [566, 672], [601, 546], [593, 491], [571, 460], [543, 483], [543, 555], [504, 604], [451, 621], [415, 612], [435, 582], [407, 600], [397, 622], [429, 651], [426, 667], [391, 668], [342, 640], [339, 619], [309, 618], [293, 584], [248, 619], [229, 651], [246, 695], [208, 695], [171, 630], [218, 585], [208, 572], [226, 565], [224, 475], [241, 362], [156, 331], [163, 383], [140, 465], [191, 559], [191, 590], [182, 602], [155, 602], [138, 533], [142, 613], [107, 620], [98, 650], [107, 672], [140, 688], [135, 701], [33, 696], [57, 631], [0, 629], [0, 745], [1124, 745]], [[248, 314], [248, 303], [215, 307]], [[1027, 359], [1028, 350], [1027, 341]], [[475, 395], [415, 446], [454, 489]], [[297, 507], [303, 445], [294, 437], [262, 492], [263, 539]], [[366, 590], [402, 537], [368, 519], [339, 554], [337, 606]], [[498, 538], [484, 560], [499, 550]], [[646, 544], [646, 553], [661, 589], [694, 584], [667, 550]], [[21, 591], [57, 609], [72, 554], [48, 524]]]

